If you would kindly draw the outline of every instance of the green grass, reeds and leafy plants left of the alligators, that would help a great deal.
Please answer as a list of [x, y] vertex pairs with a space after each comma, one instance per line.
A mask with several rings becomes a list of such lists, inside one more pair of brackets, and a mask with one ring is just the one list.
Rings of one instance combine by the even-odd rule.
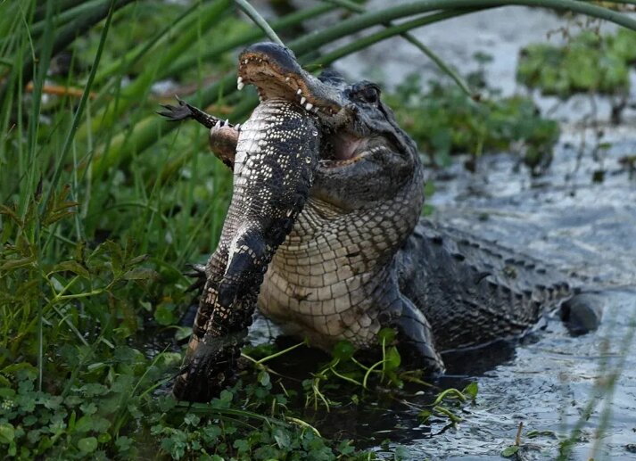
[[[636, 29], [585, 2], [508, 3], [569, 8]], [[385, 37], [501, 4], [353, 8], [317, 34], [285, 37], [302, 21], [351, 10], [334, 2], [270, 25], [302, 62], [324, 66]], [[389, 23], [401, 18], [408, 21]], [[320, 46], [377, 24], [385, 28], [316, 58]], [[154, 111], [178, 93], [244, 119], [257, 100], [235, 92], [235, 53], [263, 37], [230, 0], [0, 3], [0, 452], [368, 457], [290, 420], [289, 397], [273, 391], [259, 366], [207, 406], [160, 395], [180, 361], [164, 348], [188, 333], [178, 325], [191, 300], [181, 271], [214, 250], [232, 183], [202, 129]], [[168, 95], [153, 90], [162, 80], [175, 86]], [[382, 375], [359, 369], [351, 379], [398, 379], [383, 364]], [[318, 373], [333, 380], [343, 371], [331, 364]]]

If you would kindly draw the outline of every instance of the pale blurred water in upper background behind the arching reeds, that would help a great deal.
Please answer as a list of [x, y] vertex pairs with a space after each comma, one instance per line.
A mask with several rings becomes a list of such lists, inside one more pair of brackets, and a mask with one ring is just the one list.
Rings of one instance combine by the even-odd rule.
[[[387, 0], [372, 0], [369, 10], [392, 5]], [[312, 26], [313, 27], [313, 26]], [[523, 6], [506, 6], [483, 12], [459, 16], [438, 22], [425, 28], [414, 29], [411, 34], [438, 54], [444, 62], [458, 70], [461, 75], [482, 69], [488, 86], [501, 95], [530, 93], [516, 83], [516, 66], [519, 51], [530, 43], [548, 42], [565, 45], [561, 31], [567, 30], [575, 36], [581, 29], [599, 28], [601, 33], [617, 29], [613, 23], [590, 21], [582, 16], [558, 15], [546, 9]], [[342, 45], [343, 42], [338, 42]], [[491, 61], [481, 65], [475, 54], [488, 55]], [[378, 63], [382, 65], [378, 65]], [[359, 53], [347, 56], [335, 63], [335, 68], [352, 79], [370, 79], [391, 88], [412, 73], [422, 76], [422, 81], [444, 76], [415, 46], [401, 37], [393, 37]], [[636, 72], [631, 74], [629, 100], [636, 100]], [[612, 98], [596, 95], [574, 95], [567, 101], [555, 96], [541, 96], [532, 92], [535, 103], [544, 113], [549, 111], [554, 119], [576, 121], [592, 116], [609, 119]], [[624, 110], [625, 119], [636, 119], [633, 107]]]

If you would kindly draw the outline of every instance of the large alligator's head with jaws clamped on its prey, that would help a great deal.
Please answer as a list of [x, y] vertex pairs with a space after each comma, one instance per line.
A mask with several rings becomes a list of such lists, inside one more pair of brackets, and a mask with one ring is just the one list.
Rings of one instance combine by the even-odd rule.
[[318, 119], [323, 143], [311, 190], [316, 199], [356, 210], [390, 199], [415, 177], [421, 180], [417, 147], [375, 83], [349, 85], [333, 70], [316, 78], [291, 50], [271, 43], [252, 45], [239, 56], [239, 89], [247, 83], [257, 86], [261, 100], [293, 101]]

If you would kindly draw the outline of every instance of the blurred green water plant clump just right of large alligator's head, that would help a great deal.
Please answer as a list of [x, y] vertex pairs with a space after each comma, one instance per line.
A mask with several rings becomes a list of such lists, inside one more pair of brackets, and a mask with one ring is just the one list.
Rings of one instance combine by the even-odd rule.
[[[467, 81], [482, 82], [483, 78], [474, 74]], [[456, 153], [478, 157], [516, 151], [533, 173], [549, 165], [560, 129], [557, 121], [541, 116], [532, 99], [500, 97], [496, 90], [482, 86], [477, 103], [450, 83], [433, 81], [424, 88], [421, 77], [413, 74], [387, 100], [396, 108], [401, 127], [432, 164], [448, 166]]]

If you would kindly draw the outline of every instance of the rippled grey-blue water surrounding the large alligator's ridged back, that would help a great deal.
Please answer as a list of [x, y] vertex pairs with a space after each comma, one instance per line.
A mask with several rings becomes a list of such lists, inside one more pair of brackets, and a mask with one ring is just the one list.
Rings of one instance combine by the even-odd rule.
[[[558, 318], [550, 318], [533, 341], [519, 345], [491, 369], [458, 357], [450, 373], [474, 374], [480, 386], [479, 406], [458, 431], [412, 445], [414, 456], [433, 458], [491, 457], [514, 440], [516, 426], [525, 430], [571, 432], [583, 409], [603, 392], [596, 384], [622, 366], [613, 396], [606, 396], [583, 425], [575, 445], [576, 459], [636, 459], [636, 180], [619, 163], [636, 147], [636, 133], [607, 130], [612, 146], [593, 158], [588, 139], [566, 133], [549, 172], [531, 178], [516, 171], [516, 159], [499, 155], [482, 159], [475, 175], [460, 165], [445, 181], [435, 180], [431, 202], [435, 218], [496, 239], [511, 248], [556, 263], [566, 272], [590, 277], [601, 289], [605, 317], [599, 331], [574, 337]], [[631, 137], [631, 139], [630, 139]], [[592, 182], [605, 171], [603, 183]], [[438, 175], [442, 176], [442, 175]], [[622, 365], [621, 365], [622, 364]], [[476, 372], [476, 373], [475, 373]], [[605, 411], [609, 422], [597, 437]], [[523, 439], [522, 439], [523, 440]], [[531, 442], [530, 458], [553, 458], [558, 440], [545, 436]]]

